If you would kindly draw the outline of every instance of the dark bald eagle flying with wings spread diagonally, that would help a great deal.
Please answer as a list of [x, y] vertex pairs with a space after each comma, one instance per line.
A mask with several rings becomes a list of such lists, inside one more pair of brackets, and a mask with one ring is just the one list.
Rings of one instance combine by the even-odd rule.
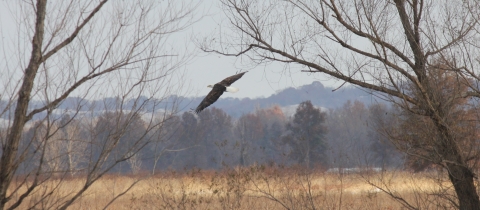
[[247, 72], [242, 72], [242, 73], [227, 77], [215, 85], [208, 85], [207, 87], [212, 88], [212, 90], [202, 100], [202, 102], [200, 102], [197, 109], [195, 109], [195, 112], [198, 114], [203, 109], [215, 103], [215, 101], [217, 101], [217, 99], [220, 98], [223, 92], [231, 92], [231, 93], [238, 92], [238, 88], [230, 87], [230, 85], [235, 81], [237, 81], [238, 79], [240, 79], [240, 77], [242, 77], [245, 73]]

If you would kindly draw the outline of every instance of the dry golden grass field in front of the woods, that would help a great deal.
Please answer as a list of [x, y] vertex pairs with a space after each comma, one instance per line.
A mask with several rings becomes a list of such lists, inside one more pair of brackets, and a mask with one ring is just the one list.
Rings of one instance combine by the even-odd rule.
[[[55, 209], [77, 192], [84, 181], [48, 181], [27, 197], [19, 209], [34, 203], [36, 209]], [[126, 191], [133, 183], [136, 184]], [[40, 199], [51, 189], [55, 190], [48, 198]], [[452, 194], [448, 180], [437, 173], [341, 175], [251, 167], [154, 176], [108, 175], [94, 183], [69, 209], [104, 209], [116, 197], [107, 209], [409, 209], [408, 205], [449, 209], [452, 206], [447, 200]]]

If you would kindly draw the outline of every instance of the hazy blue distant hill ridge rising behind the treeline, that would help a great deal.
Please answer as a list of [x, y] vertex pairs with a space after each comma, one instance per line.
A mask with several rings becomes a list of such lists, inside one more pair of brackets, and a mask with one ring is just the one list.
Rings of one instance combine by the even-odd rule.
[[[278, 91], [267, 98], [232, 98], [225, 97], [229, 94], [224, 94], [215, 104], [211, 107], [217, 107], [224, 110], [230, 116], [238, 118], [242, 114], [255, 111], [257, 108], [268, 108], [273, 105], [279, 105], [285, 110], [294, 109], [295, 105], [310, 100], [317, 107], [324, 108], [336, 108], [342, 106], [348, 100], [358, 100], [366, 105], [373, 102], [373, 96], [363, 91], [362, 89], [355, 87], [344, 87], [336, 91], [332, 91], [332, 88], [324, 87], [320, 82], [313, 82], [312, 84], [304, 85], [298, 88], [286, 88]], [[164, 101], [148, 100], [146, 97], [140, 98], [136, 102], [134, 100], [127, 101], [122, 105], [124, 110], [129, 110], [136, 104], [146, 104], [144, 110], [146, 112], [161, 111], [165, 106], [170, 106], [173, 101], [180, 100], [179, 109], [180, 113], [195, 109], [196, 106], [205, 96], [201, 97], [183, 97], [183, 96], [171, 96]], [[74, 110], [88, 111], [93, 110], [95, 114], [100, 114], [105, 110], [113, 110], [120, 107], [119, 98], [104, 98], [96, 101], [88, 101], [78, 97], [69, 97], [60, 103], [57, 107], [59, 114], [63, 112], [69, 112]], [[0, 101], [0, 108], [7, 106], [6, 101]], [[32, 101], [30, 104], [30, 110], [33, 108], [42, 107], [44, 103], [42, 101]], [[3, 118], [8, 119], [9, 114], [13, 113], [14, 106], [10, 107], [10, 111], [7, 112]], [[39, 113], [35, 118], [39, 119], [45, 116], [46, 113]]]

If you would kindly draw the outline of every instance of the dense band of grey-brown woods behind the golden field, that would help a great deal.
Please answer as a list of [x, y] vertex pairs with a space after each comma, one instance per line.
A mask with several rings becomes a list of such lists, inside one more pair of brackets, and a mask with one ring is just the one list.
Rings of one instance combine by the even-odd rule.
[[[150, 130], [149, 118], [142, 118], [141, 112], [129, 116], [107, 111], [90, 120], [75, 120], [67, 114], [51, 124], [34, 122], [21, 145], [32, 152], [46, 150], [41, 164], [52, 175], [84, 174], [98, 159], [103, 167], [114, 166], [110, 172], [122, 174], [251, 165], [403, 169], [399, 151], [374, 126], [378, 116], [393, 121], [393, 112], [386, 105], [366, 107], [359, 101], [321, 112], [305, 101], [292, 116], [272, 106], [236, 119], [213, 107], [199, 115], [172, 115], [161, 121], [161, 129]], [[390, 126], [398, 129], [399, 125]], [[45, 135], [51, 140], [42, 141]], [[111, 148], [108, 156], [103, 154], [105, 148]], [[131, 157], [115, 163], [125, 155]], [[30, 158], [27, 163], [38, 157]], [[35, 167], [24, 164], [19, 173]]]

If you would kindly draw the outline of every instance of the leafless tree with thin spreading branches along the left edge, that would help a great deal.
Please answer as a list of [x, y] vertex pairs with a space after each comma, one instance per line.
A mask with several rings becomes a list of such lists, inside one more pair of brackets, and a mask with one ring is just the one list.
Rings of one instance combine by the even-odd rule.
[[[161, 124], [153, 120], [159, 108], [175, 113], [176, 102], [168, 96], [181, 93], [182, 85], [174, 79], [190, 55], [177, 52], [169, 45], [169, 37], [195, 22], [195, 5], [154, 0], [1, 4], [9, 8], [16, 30], [2, 29], [7, 38], [2, 39], [0, 59], [0, 117], [8, 123], [0, 145], [0, 209], [40, 205], [66, 209], [95, 181], [151, 141], [148, 134]], [[59, 106], [70, 96], [80, 100], [70, 110], [71, 119], [58, 123], [62, 119]], [[114, 100], [88, 103], [107, 96]], [[105, 109], [116, 113], [111, 119], [115, 125], [99, 142], [97, 115]], [[119, 144], [139, 117], [145, 122], [143, 132], [128, 139], [127, 145]], [[66, 129], [68, 135], [61, 135], [62, 128], [71, 128], [68, 125], [75, 120], [80, 120], [86, 131], [81, 134], [84, 147], [75, 148], [84, 149], [86, 162], [78, 165], [72, 162], [77, 154], [69, 145], [79, 140], [73, 139], [76, 131]], [[29, 128], [36, 135], [27, 135]], [[66, 162], [69, 170], [51, 165]], [[71, 168], [81, 167], [85, 169], [81, 188], [48, 206], [41, 204], [51, 199]], [[55, 182], [59, 184], [38, 194], [36, 189], [51, 179], [49, 174], [54, 171], [60, 173]], [[37, 201], [25, 202], [34, 193]]]

